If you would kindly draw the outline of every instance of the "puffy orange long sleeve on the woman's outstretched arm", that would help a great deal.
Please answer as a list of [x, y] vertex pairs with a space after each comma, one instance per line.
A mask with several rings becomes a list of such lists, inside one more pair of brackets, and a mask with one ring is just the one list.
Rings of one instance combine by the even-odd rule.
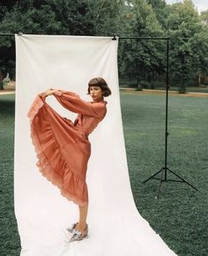
[[105, 105], [100, 102], [85, 102], [80, 99], [78, 94], [63, 90], [56, 90], [54, 95], [56, 100], [60, 102], [65, 109], [69, 109], [74, 113], [98, 118], [105, 114]]

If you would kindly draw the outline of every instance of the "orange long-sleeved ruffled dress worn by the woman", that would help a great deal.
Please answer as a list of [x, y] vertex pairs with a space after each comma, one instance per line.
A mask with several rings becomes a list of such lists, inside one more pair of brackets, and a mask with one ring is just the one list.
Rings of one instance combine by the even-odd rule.
[[61, 194], [75, 204], [88, 202], [85, 183], [91, 155], [88, 135], [106, 116], [107, 102], [85, 102], [78, 94], [56, 90], [56, 100], [65, 109], [78, 113], [74, 123], [61, 117], [46, 99], [38, 95], [29, 109], [31, 138], [42, 175], [55, 184]]

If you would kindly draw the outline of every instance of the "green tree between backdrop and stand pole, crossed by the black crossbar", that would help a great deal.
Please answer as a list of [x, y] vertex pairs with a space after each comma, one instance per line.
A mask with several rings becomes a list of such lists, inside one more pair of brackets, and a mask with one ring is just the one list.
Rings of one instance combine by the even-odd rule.
[[[123, 34], [130, 37], [161, 36], [161, 26], [152, 6], [142, 1], [126, 1], [123, 11]], [[120, 42], [120, 74], [151, 83], [164, 70], [164, 44], [161, 41], [127, 40]]]

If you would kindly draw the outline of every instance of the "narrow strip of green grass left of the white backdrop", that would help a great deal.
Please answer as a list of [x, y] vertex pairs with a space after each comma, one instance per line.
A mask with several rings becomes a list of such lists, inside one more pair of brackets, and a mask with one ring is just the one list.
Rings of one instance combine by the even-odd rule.
[[14, 95], [0, 96], [0, 255], [18, 256], [20, 241], [14, 215]]

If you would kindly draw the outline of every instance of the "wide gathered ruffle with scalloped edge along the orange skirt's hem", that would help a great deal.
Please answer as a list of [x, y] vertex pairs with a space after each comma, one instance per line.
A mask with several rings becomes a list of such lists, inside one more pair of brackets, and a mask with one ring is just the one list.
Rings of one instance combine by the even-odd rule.
[[[85, 180], [76, 176], [67, 166], [48, 120], [39, 118], [45, 107], [44, 102], [37, 96], [27, 115], [32, 122], [31, 138], [38, 158], [36, 165], [42, 176], [56, 185], [67, 200], [72, 200], [78, 205], [85, 205], [88, 200]], [[41, 125], [41, 132], [35, 123]]]

